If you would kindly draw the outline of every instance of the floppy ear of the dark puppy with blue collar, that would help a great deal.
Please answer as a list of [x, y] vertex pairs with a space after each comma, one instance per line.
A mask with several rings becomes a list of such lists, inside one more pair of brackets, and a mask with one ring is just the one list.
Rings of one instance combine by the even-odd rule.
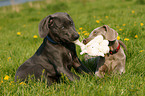
[[53, 24], [51, 15], [45, 17], [39, 23], [39, 36], [45, 38], [49, 34], [49, 27]]

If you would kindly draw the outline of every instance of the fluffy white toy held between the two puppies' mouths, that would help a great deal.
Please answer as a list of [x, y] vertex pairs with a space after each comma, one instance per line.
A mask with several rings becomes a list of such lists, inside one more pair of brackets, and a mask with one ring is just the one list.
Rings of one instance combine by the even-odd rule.
[[84, 53], [87, 53], [90, 56], [102, 56], [104, 57], [104, 54], [109, 53], [109, 41], [103, 40], [102, 35], [96, 36], [93, 40], [88, 42], [86, 45], [84, 45], [79, 40], [74, 41], [75, 44], [79, 45], [81, 47], [82, 52], [81, 55]]

